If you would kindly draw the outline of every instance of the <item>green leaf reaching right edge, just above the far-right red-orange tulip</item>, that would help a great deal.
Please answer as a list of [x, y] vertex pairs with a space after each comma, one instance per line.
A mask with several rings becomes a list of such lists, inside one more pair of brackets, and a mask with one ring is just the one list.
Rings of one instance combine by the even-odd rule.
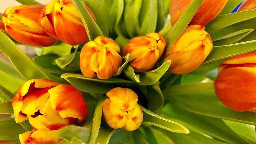
[[203, 64], [251, 52], [254, 50], [256, 50], [256, 40], [224, 46], [214, 46], [212, 52], [205, 59]]

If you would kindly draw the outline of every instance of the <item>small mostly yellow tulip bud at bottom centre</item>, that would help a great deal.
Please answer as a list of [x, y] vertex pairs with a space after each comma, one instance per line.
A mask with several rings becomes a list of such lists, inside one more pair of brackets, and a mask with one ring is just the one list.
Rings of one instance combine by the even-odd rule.
[[116, 87], [107, 93], [102, 112], [105, 122], [114, 129], [134, 131], [141, 125], [143, 113], [138, 105], [137, 94], [128, 88]]

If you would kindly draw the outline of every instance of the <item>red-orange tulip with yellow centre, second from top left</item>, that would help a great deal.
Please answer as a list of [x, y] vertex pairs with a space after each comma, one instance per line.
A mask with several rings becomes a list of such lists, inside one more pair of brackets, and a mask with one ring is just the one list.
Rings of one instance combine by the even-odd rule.
[[[84, 6], [95, 20], [92, 11]], [[71, 0], [52, 0], [43, 8], [38, 23], [48, 35], [69, 45], [88, 41], [83, 22]]]

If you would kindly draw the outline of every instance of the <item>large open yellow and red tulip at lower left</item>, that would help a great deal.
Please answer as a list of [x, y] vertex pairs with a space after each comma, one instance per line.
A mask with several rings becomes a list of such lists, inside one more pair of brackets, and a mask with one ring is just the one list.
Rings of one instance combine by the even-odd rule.
[[28, 119], [36, 130], [21, 134], [20, 138], [37, 137], [38, 141], [47, 136], [42, 133], [51, 135], [51, 131], [75, 124], [76, 120], [83, 122], [88, 113], [79, 90], [47, 79], [33, 79], [22, 84], [12, 99], [12, 106], [15, 121], [19, 123]]

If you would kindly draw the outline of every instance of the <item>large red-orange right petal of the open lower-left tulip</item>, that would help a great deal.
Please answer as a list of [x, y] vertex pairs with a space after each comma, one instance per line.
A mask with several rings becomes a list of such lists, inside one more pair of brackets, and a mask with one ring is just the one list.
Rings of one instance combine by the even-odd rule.
[[58, 111], [62, 118], [77, 118], [79, 123], [86, 119], [88, 109], [79, 90], [70, 85], [60, 84], [48, 92], [51, 107]]

